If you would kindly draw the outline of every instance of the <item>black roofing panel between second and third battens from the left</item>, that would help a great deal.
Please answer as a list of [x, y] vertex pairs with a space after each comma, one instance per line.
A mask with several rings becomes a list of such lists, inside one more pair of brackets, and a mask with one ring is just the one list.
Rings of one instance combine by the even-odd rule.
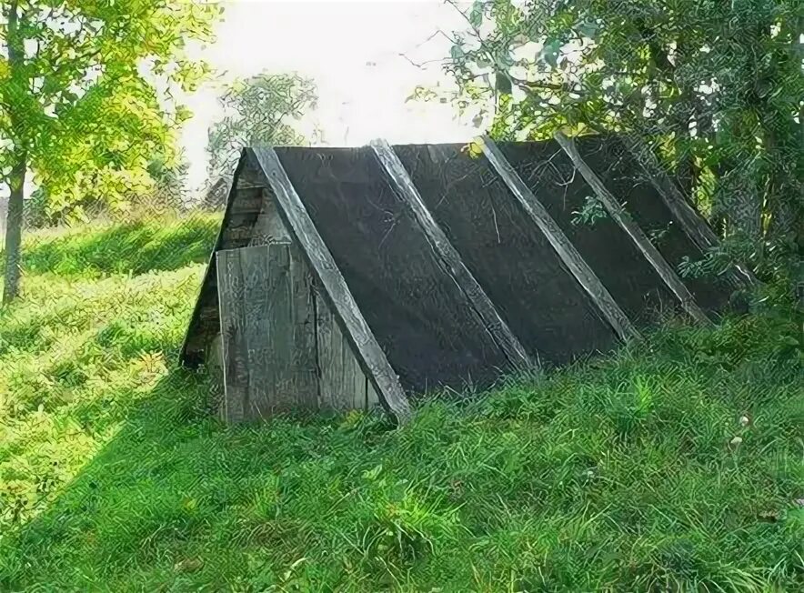
[[[617, 337], [485, 157], [397, 146], [427, 208], [530, 352], [561, 364]], [[532, 256], [538, 254], [538, 257]]]

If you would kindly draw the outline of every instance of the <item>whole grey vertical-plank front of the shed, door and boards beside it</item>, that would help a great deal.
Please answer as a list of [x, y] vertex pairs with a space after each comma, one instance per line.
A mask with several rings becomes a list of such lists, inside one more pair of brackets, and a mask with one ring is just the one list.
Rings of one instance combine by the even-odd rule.
[[217, 253], [221, 334], [213, 340], [219, 353], [213, 347], [210, 355], [220, 357], [220, 414], [227, 422], [377, 405], [374, 387], [313, 282], [298, 246], [288, 242]]

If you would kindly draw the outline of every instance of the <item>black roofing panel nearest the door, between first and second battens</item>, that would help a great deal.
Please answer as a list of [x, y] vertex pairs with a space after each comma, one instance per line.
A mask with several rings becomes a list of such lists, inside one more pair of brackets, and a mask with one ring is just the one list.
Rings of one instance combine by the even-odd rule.
[[457, 387], [468, 377], [490, 384], [507, 367], [505, 356], [388, 186], [373, 151], [276, 153], [402, 387]]

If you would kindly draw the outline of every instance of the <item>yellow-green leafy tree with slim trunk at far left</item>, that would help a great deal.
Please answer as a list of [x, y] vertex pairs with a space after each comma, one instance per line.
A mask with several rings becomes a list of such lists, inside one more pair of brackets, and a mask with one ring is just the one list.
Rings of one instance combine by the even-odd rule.
[[[168, 0], [3, 0], [0, 181], [10, 197], [3, 299], [18, 293], [25, 180], [54, 210], [146, 187], [150, 157], [187, 112], [156, 83], [191, 90], [206, 67], [187, 40], [211, 40], [216, 5]], [[166, 146], [168, 148], [166, 148]]]

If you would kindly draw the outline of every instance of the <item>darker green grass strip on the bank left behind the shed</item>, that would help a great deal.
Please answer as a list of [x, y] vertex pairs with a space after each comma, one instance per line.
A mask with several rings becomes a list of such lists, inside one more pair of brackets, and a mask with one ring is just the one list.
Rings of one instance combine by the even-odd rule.
[[191, 216], [168, 224], [136, 221], [56, 237], [24, 248], [23, 267], [65, 277], [175, 270], [206, 262], [218, 225], [216, 216]]

